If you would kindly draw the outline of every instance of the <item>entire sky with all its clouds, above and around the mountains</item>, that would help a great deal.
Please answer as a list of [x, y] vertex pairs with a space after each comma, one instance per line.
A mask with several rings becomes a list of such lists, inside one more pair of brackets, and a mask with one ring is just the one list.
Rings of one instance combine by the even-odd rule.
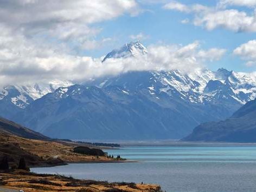
[[[202, 67], [256, 74], [256, 0], [0, 1], [0, 31], [5, 83]], [[101, 63], [137, 36], [146, 58]]]

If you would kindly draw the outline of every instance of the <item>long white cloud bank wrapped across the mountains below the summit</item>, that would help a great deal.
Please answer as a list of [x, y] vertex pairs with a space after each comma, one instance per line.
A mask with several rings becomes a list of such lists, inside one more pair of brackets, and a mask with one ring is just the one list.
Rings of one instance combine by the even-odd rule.
[[127, 71], [172, 70], [183, 72], [201, 68], [205, 62], [216, 61], [224, 49], [200, 49], [200, 43], [181, 45], [150, 45], [148, 54], [107, 59], [70, 54], [68, 48], [50, 47], [24, 39], [10, 31], [0, 34], [0, 81], [2, 84], [49, 82], [53, 80], [87, 81]]

